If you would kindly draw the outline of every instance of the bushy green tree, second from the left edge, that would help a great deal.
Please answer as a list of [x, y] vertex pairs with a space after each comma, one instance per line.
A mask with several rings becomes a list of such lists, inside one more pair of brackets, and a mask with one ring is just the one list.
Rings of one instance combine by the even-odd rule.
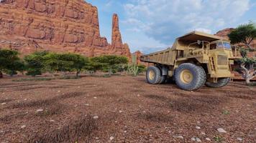
[[47, 51], [38, 51], [24, 57], [27, 75], [35, 77], [42, 74], [44, 56], [47, 54], [49, 54]]

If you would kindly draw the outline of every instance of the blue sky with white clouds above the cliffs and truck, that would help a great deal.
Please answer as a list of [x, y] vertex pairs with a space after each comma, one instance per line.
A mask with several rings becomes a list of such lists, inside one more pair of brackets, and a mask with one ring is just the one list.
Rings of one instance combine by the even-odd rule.
[[256, 0], [86, 0], [99, 10], [101, 36], [111, 43], [111, 16], [119, 15], [122, 39], [132, 52], [165, 49], [177, 36], [256, 21]]

